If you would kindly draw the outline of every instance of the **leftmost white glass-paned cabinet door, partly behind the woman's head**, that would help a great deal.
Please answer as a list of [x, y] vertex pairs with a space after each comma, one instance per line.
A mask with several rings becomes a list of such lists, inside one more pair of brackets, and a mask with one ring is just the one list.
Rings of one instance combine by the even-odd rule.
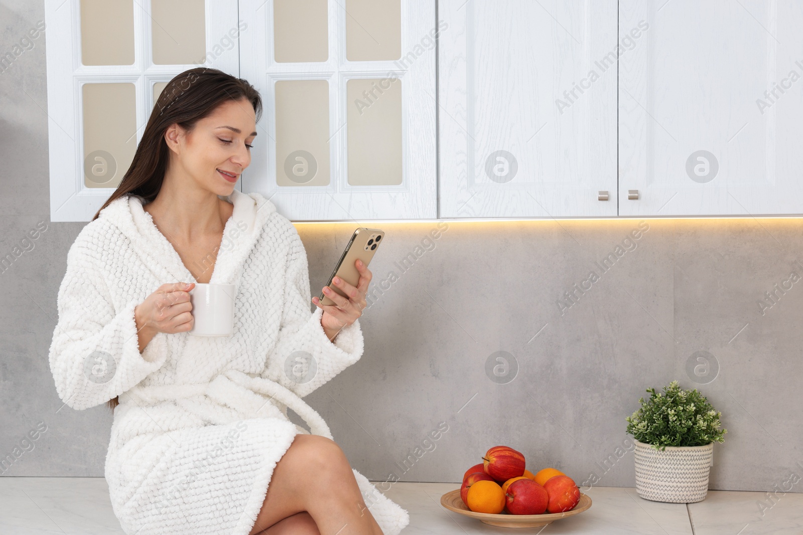
[[128, 170], [161, 89], [194, 67], [238, 75], [245, 25], [236, 0], [44, 8], [51, 221], [90, 221]]

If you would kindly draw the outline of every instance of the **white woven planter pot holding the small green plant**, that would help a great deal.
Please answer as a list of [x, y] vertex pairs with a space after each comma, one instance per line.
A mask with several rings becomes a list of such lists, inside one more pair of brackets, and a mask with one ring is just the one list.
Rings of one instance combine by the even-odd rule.
[[645, 500], [691, 504], [708, 492], [708, 472], [714, 443], [706, 446], [666, 446], [661, 452], [634, 440], [636, 492]]

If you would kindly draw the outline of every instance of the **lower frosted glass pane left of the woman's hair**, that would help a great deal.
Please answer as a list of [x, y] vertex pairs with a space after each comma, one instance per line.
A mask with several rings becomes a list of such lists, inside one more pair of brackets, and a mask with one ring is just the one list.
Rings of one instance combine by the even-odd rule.
[[116, 188], [137, 150], [133, 83], [84, 83], [84, 184]]

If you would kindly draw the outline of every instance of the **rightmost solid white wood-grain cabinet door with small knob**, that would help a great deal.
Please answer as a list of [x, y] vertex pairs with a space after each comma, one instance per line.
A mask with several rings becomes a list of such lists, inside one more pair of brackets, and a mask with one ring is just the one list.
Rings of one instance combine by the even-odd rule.
[[619, 59], [619, 215], [803, 213], [803, 3], [619, 2], [620, 34], [640, 21]]

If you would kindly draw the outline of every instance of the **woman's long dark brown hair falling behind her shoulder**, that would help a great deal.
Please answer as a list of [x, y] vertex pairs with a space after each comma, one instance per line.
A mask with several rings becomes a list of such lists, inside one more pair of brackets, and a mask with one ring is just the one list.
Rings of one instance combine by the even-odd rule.
[[[241, 99], [251, 103], [259, 122], [263, 110], [262, 98], [259, 91], [244, 79], [218, 69], [196, 67], [170, 80], [151, 111], [131, 167], [92, 221], [100, 215], [100, 210], [124, 195], [141, 197], [143, 204], [157, 197], [169, 161], [165, 132], [171, 124], [178, 124], [186, 132], [192, 132], [198, 120], [210, 116], [219, 104]], [[114, 411], [119, 403], [120, 396], [116, 396], [109, 399], [108, 406]]]

